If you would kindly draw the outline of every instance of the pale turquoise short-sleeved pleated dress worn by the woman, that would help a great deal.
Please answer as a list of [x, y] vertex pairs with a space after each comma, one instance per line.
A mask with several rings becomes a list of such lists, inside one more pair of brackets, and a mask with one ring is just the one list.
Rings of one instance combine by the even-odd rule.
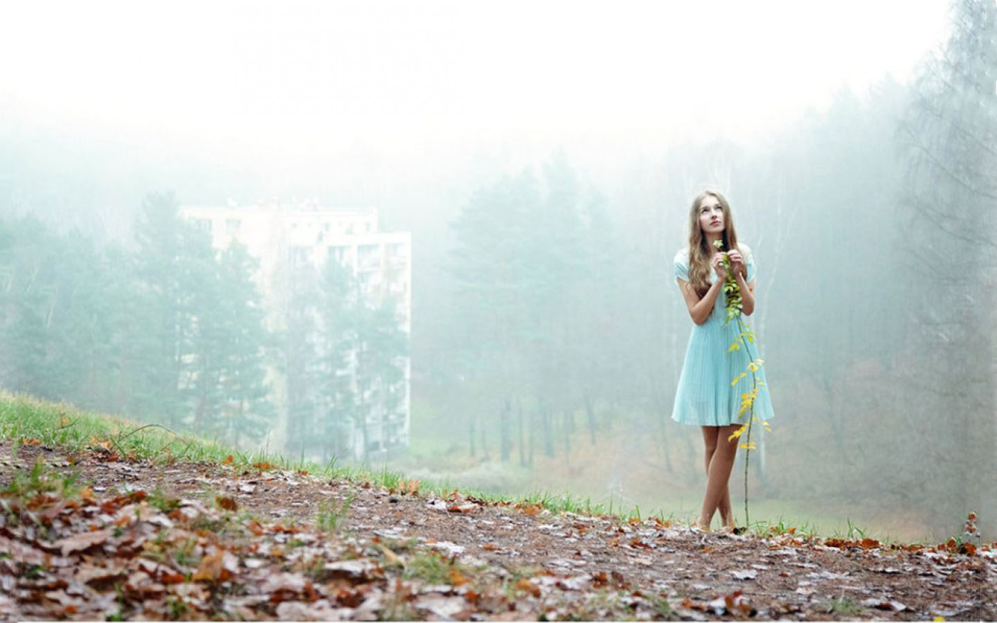
[[[756, 276], [755, 257], [748, 245], [739, 244], [738, 248], [745, 259], [746, 281], [751, 283]], [[674, 268], [676, 279], [689, 280], [688, 248], [676, 253]], [[717, 275], [711, 270], [710, 281], [716, 280]], [[754, 344], [749, 342], [747, 350], [742, 344], [741, 349], [729, 352], [731, 342], [738, 339], [739, 330], [733, 320], [724, 324], [727, 319], [726, 301], [727, 297], [721, 291], [706, 322], [693, 324], [672, 408], [672, 420], [676, 422], [710, 427], [748, 422], [748, 414], [739, 418], [739, 411], [742, 395], [752, 390], [752, 374], [749, 372], [734, 386], [731, 382], [747, 370], [749, 362], [758, 357], [758, 340]], [[747, 326], [748, 318], [742, 316], [742, 319]], [[759, 369], [756, 377], [759, 391], [755, 398], [754, 416], [763, 421], [770, 420], [775, 414], [764, 367]]]

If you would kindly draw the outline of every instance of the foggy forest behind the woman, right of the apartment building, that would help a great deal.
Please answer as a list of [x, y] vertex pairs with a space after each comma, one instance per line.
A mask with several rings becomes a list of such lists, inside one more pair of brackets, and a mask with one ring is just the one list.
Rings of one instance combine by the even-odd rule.
[[711, 185], [759, 265], [779, 445], [760, 454], [766, 491], [938, 526], [997, 513], [995, 13], [956, 2], [911, 84], [842, 91], [750, 151], [663, 146], [602, 188], [555, 155], [483, 185], [435, 255], [446, 286], [422, 294], [415, 277], [428, 411], [461, 421], [471, 454], [522, 465], [619, 422], [663, 482], [698, 469], [668, 421], [691, 328], [671, 260]]

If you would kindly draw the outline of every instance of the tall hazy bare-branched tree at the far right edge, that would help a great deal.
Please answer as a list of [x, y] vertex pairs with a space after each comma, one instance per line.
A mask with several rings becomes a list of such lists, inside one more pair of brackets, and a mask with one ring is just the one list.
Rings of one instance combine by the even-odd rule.
[[[936, 478], [906, 479], [940, 508], [997, 514], [997, 7], [953, 5], [952, 35], [924, 66], [900, 125], [900, 255], [908, 313], [900, 439]], [[945, 485], [940, 486], [940, 483]]]

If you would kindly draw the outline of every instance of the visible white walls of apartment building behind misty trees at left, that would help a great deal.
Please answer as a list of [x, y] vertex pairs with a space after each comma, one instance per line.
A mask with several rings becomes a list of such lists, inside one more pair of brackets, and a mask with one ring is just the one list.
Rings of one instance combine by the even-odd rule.
[[[327, 209], [306, 201], [247, 206], [186, 205], [179, 208], [179, 213], [209, 232], [215, 248], [225, 248], [237, 240], [259, 260], [256, 279], [271, 325], [277, 324], [275, 314], [288, 302], [285, 281], [289, 276], [306, 266], [321, 269], [331, 258], [353, 271], [367, 303], [391, 300], [399, 327], [406, 333], [411, 331], [412, 234], [379, 231], [376, 210]], [[279, 377], [273, 371], [270, 376]], [[378, 422], [368, 422], [366, 442], [356, 424], [345, 432], [354, 459], [408, 446], [410, 379], [411, 364], [406, 358], [400, 413], [380, 413]], [[281, 414], [280, 424], [284, 424], [288, 413], [286, 396], [281, 391], [282, 379], [273, 380], [277, 381], [273, 383], [273, 398]], [[282, 446], [284, 430], [284, 426], [274, 429], [271, 442]]]

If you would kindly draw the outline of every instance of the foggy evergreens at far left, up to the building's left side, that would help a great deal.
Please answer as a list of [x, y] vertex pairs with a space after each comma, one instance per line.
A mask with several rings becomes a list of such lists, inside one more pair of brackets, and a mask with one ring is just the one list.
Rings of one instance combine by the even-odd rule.
[[215, 253], [170, 194], [145, 202], [135, 250], [30, 216], [0, 231], [8, 389], [235, 444], [265, 433], [266, 331], [243, 248]]

